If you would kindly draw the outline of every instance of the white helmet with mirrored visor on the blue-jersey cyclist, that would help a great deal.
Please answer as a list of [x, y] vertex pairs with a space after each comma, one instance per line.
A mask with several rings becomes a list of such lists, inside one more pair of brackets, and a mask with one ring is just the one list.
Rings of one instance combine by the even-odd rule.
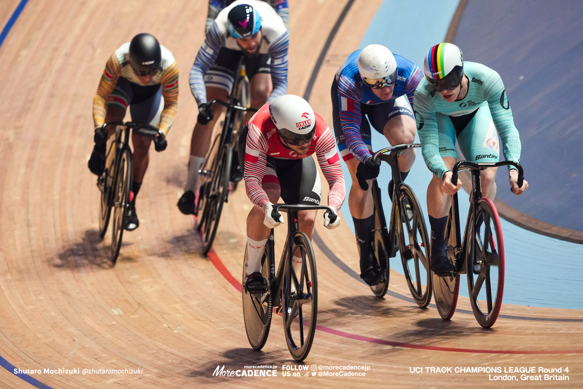
[[397, 79], [397, 62], [388, 48], [370, 44], [359, 55], [359, 73], [364, 85], [381, 89], [391, 86]]

